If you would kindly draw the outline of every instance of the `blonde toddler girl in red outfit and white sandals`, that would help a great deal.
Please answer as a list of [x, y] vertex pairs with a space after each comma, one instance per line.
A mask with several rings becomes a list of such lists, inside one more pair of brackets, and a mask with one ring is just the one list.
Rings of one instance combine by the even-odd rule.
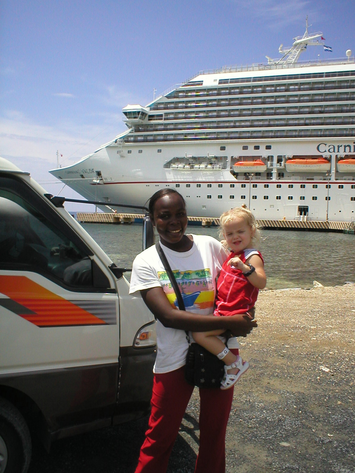
[[[248, 313], [256, 303], [259, 289], [266, 286], [264, 260], [254, 246], [260, 239], [260, 232], [254, 215], [246, 207], [236, 207], [222, 213], [220, 236], [231, 250], [217, 281], [215, 316]], [[249, 368], [248, 361], [234, 355], [218, 335], [222, 330], [194, 332], [195, 342], [222, 359], [225, 363], [221, 389], [235, 385]]]

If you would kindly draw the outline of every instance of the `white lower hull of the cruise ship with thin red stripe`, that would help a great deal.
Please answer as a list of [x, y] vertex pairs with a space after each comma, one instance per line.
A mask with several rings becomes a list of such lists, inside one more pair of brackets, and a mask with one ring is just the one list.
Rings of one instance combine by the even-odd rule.
[[[260, 142], [260, 141], [258, 141]], [[277, 155], [293, 149], [293, 154], [313, 154], [319, 141], [307, 140], [303, 143], [268, 140], [267, 145]], [[338, 145], [352, 142], [332, 140]], [[265, 146], [264, 143], [262, 145]], [[262, 146], [261, 145], [261, 146]], [[335, 156], [330, 157], [331, 173], [322, 170], [299, 170], [287, 172], [284, 163], [268, 164], [260, 176], [233, 175], [230, 159], [227, 169], [166, 169], [165, 162], [176, 156], [180, 147], [189, 155], [206, 153], [206, 144], [176, 143], [174, 145], [124, 146], [117, 154], [117, 145], [106, 146], [88, 158], [72, 166], [51, 171], [53, 175], [67, 182], [70, 187], [88, 200], [137, 205], [136, 213], [143, 213], [142, 206], [153, 193], [161, 188], [172, 187], [186, 200], [188, 215], [191, 217], [219, 217], [222, 212], [245, 203], [257, 219], [297, 219], [307, 209], [308, 219], [329, 221], [351, 221], [355, 216], [355, 172], [341, 179], [336, 172]], [[228, 155], [240, 156], [243, 142], [227, 143]], [[210, 154], [220, 153], [221, 143], [209, 143]], [[139, 153], [142, 149], [142, 153]], [[131, 150], [130, 154], [127, 151]], [[223, 151], [224, 152], [224, 151]], [[275, 166], [274, 166], [275, 164]], [[97, 179], [97, 171], [102, 178]], [[266, 172], [272, 173], [266, 179]], [[283, 180], [278, 179], [283, 173]], [[329, 187], [328, 187], [329, 185]], [[100, 207], [109, 211], [107, 207]], [[119, 209], [120, 210], [120, 209]], [[118, 211], [119, 211], [118, 210]], [[121, 211], [127, 211], [122, 208]], [[131, 210], [129, 210], [131, 212]]]

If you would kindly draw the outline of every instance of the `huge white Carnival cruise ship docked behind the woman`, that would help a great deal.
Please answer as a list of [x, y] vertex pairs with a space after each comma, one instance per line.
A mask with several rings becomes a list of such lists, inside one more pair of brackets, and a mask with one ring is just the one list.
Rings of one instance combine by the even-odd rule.
[[126, 131], [50, 172], [106, 212], [115, 202], [142, 213], [173, 187], [192, 217], [246, 204], [257, 219], [352, 222], [354, 56], [299, 61], [309, 46], [327, 48], [306, 21], [279, 59], [200, 71], [146, 106], [127, 105]]

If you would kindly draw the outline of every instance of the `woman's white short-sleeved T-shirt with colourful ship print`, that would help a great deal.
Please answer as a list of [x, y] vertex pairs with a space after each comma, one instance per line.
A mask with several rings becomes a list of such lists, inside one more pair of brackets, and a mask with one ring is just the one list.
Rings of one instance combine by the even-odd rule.
[[[212, 236], [192, 235], [191, 250], [178, 253], [161, 245], [181, 290], [188, 312], [213, 313], [216, 278], [228, 252]], [[171, 304], [177, 305], [174, 289], [155, 245], [138, 254], [133, 261], [130, 294], [161, 286]], [[185, 365], [188, 343], [184, 330], [164, 327], [157, 321], [157, 358], [154, 373], [168, 373]]]

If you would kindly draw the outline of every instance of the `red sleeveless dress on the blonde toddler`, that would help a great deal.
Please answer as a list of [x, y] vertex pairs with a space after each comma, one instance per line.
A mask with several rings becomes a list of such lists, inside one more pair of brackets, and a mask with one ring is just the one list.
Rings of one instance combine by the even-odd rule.
[[252, 254], [257, 254], [262, 259], [260, 252], [254, 249], [246, 249], [240, 254], [231, 252], [226, 261], [223, 263], [221, 273], [217, 281], [216, 308], [214, 315], [235, 315], [248, 312], [254, 307], [257, 301], [259, 289], [253, 286], [240, 269], [228, 265], [228, 261], [235, 256], [239, 256], [241, 261], [245, 261]]

